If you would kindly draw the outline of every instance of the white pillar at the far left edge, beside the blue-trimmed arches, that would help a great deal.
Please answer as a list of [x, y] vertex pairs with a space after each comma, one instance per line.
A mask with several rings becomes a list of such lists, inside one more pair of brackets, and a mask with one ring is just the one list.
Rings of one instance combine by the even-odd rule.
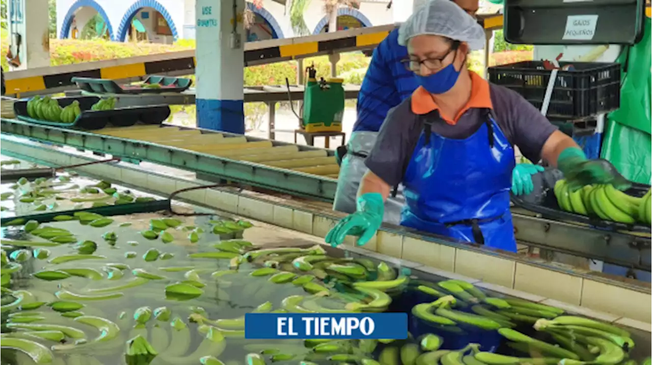
[[29, 0], [29, 7], [27, 0], [9, 0], [7, 12], [11, 55], [20, 63], [10, 70], [50, 67], [48, 0]]

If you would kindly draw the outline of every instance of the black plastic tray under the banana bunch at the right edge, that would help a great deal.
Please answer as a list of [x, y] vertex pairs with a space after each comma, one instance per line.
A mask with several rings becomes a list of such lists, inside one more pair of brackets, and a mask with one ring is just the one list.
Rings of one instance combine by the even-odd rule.
[[[557, 180], [563, 178], [559, 170], [546, 169], [546, 171], [532, 176], [534, 183], [533, 193], [526, 196], [511, 195], [512, 203], [518, 208], [539, 213], [543, 218], [554, 221], [571, 221], [576, 223], [589, 224], [595, 228], [610, 231], [628, 231], [640, 233], [652, 233], [652, 226], [643, 224], [624, 224], [614, 221], [604, 221], [598, 217], [588, 217], [586, 215], [571, 213], [559, 208], [557, 198], [554, 194], [554, 186]], [[649, 191], [650, 185], [642, 183], [633, 183], [632, 187], [625, 191], [631, 196], [644, 196]]]

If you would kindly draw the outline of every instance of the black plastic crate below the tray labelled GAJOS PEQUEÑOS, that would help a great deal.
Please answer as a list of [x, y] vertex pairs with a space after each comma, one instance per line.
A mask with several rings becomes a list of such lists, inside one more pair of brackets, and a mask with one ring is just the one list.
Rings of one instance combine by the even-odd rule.
[[[548, 118], [580, 119], [620, 107], [619, 63], [559, 62], [559, 65], [572, 65], [574, 70], [557, 72]], [[490, 82], [518, 92], [537, 109], [543, 104], [550, 73], [544, 69], [542, 61], [503, 64], [488, 69]]]

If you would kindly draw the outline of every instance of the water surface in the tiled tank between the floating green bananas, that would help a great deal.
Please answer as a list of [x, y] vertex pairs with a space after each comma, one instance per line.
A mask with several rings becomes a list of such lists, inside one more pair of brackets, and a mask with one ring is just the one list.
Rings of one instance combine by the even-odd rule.
[[[91, 185], [96, 183], [93, 180], [84, 178], [74, 178], [71, 182], [62, 183], [57, 186], [57, 189], [69, 189], [70, 187]], [[10, 185], [0, 185], [0, 193], [14, 191]], [[77, 188], [75, 188], [77, 189]], [[75, 190], [73, 189], [73, 190]], [[29, 191], [30, 189], [24, 189]], [[119, 189], [123, 191], [124, 189]], [[18, 194], [16, 194], [18, 195]], [[59, 195], [60, 197], [70, 198], [70, 196], [79, 196], [76, 191], [70, 195]], [[92, 195], [83, 195], [89, 196]], [[141, 193], [136, 193], [136, 196], [143, 196]], [[67, 199], [52, 199], [52, 202], [57, 204], [48, 208], [55, 211], [70, 210], [76, 204]], [[46, 200], [46, 199], [45, 199]], [[42, 200], [42, 201], [45, 201]], [[13, 196], [1, 202], [5, 207], [5, 217], [12, 217], [16, 214], [24, 215], [33, 213], [32, 203], [18, 202], [18, 196]], [[92, 203], [82, 204], [82, 208]], [[177, 207], [178, 209], [178, 207]], [[117, 293], [119, 297], [112, 299], [105, 299], [101, 301], [85, 300], [82, 298], [78, 300], [66, 299], [67, 301], [75, 301], [76, 303], [83, 304], [83, 308], [78, 310], [84, 316], [95, 316], [97, 318], [108, 319], [119, 327], [119, 331], [115, 338], [111, 338], [102, 344], [95, 344], [93, 341], [101, 336], [106, 335], [107, 331], [101, 328], [95, 328], [83, 323], [79, 323], [74, 318], [68, 318], [55, 312], [47, 305], [41, 306], [36, 310], [29, 311], [31, 313], [28, 317], [38, 318], [38, 321], [32, 324], [37, 325], [59, 325], [66, 326], [72, 329], [77, 329], [83, 332], [83, 338], [87, 341], [85, 344], [75, 344], [74, 339], [65, 339], [65, 343], [57, 341], [31, 339], [41, 344], [47, 349], [52, 349], [54, 356], [53, 364], [56, 365], [121, 365], [125, 363], [124, 353], [126, 351], [126, 341], [134, 338], [135, 336], [143, 336], [146, 338], [153, 348], [159, 353], [151, 364], [153, 365], [174, 365], [174, 364], [200, 364], [200, 358], [204, 356], [214, 356], [219, 358], [226, 365], [243, 365], [245, 363], [246, 355], [249, 353], [260, 353], [265, 351], [265, 359], [267, 363], [275, 362], [281, 365], [284, 364], [297, 364], [301, 360], [314, 361], [319, 364], [340, 364], [344, 365], [348, 362], [331, 361], [327, 357], [338, 353], [315, 353], [312, 349], [301, 340], [245, 340], [243, 328], [235, 327], [220, 327], [220, 333], [224, 336], [223, 340], [211, 342], [206, 339], [205, 330], [207, 327], [201, 323], [190, 321], [191, 316], [201, 314], [204, 318], [216, 321], [218, 319], [235, 319], [250, 313], [263, 303], [271, 302], [271, 307], [274, 310], [283, 308], [282, 301], [290, 295], [309, 295], [304, 291], [301, 286], [295, 286], [291, 283], [276, 284], [270, 282], [269, 276], [253, 277], [250, 275], [252, 271], [263, 267], [263, 265], [271, 265], [273, 262], [278, 262], [278, 269], [284, 271], [291, 271], [297, 276], [306, 274], [305, 272], [297, 271], [291, 265], [291, 259], [283, 256], [263, 256], [263, 258], [254, 261], [250, 264], [243, 262], [237, 267], [236, 273], [228, 273], [219, 277], [213, 277], [213, 273], [220, 271], [227, 271], [232, 269], [229, 259], [213, 259], [213, 258], [191, 258], [188, 255], [197, 252], [216, 252], [213, 247], [214, 243], [218, 243], [220, 239], [234, 238], [233, 234], [218, 235], [212, 233], [212, 228], [216, 222], [221, 221], [223, 218], [217, 215], [197, 215], [194, 217], [181, 217], [173, 216], [175, 219], [182, 221], [182, 224], [177, 228], [168, 228], [174, 240], [171, 243], [164, 243], [162, 239], [147, 239], [141, 234], [144, 230], [149, 230], [151, 219], [160, 219], [164, 216], [157, 213], [151, 214], [138, 214], [138, 215], [124, 215], [119, 217], [112, 217], [114, 220], [109, 226], [102, 228], [93, 228], [88, 225], [82, 225], [78, 221], [55, 222], [42, 224], [42, 226], [52, 226], [55, 228], [63, 228], [74, 234], [76, 241], [93, 241], [97, 245], [97, 249], [93, 252], [93, 256], [86, 256], [84, 260], [76, 260], [65, 262], [63, 264], [54, 264], [50, 262], [53, 258], [60, 256], [77, 254], [77, 251], [72, 244], [63, 244], [55, 247], [44, 247], [50, 251], [48, 258], [37, 259], [34, 257], [29, 258], [25, 262], [21, 262], [22, 269], [12, 274], [12, 282], [10, 283], [11, 290], [25, 290], [33, 295], [34, 301], [42, 301], [45, 303], [52, 303], [58, 301], [57, 293], [67, 291], [78, 295], [97, 295], [97, 290], [113, 288], [121, 286], [135, 280], [136, 277], [133, 273], [134, 270], [141, 269], [147, 273], [158, 275], [162, 278], [158, 280], [149, 280], [143, 282], [139, 286], [132, 288], [125, 288], [121, 290], [108, 290], [106, 293]], [[192, 242], [188, 235], [192, 229], [200, 228], [200, 239]], [[256, 232], [260, 232], [263, 228], [252, 228]], [[106, 241], [102, 238], [106, 233], [110, 232], [115, 234], [117, 239], [115, 241]], [[250, 231], [252, 232], [252, 231]], [[264, 235], [257, 235], [264, 237]], [[244, 239], [250, 235], [244, 231]], [[23, 241], [44, 241], [39, 237], [28, 234], [23, 230], [22, 226], [2, 228], [0, 230], [0, 238], [3, 239], [17, 239]], [[262, 238], [261, 238], [262, 239]], [[265, 242], [254, 241], [254, 244], [269, 244], [274, 241], [275, 245], [284, 245], [284, 242], [279, 241], [278, 237], [270, 235], [270, 238]], [[18, 248], [18, 247], [16, 247]], [[25, 249], [25, 248], [23, 248]], [[27, 248], [30, 249], [30, 248]], [[31, 247], [37, 249], [37, 247]], [[158, 260], [147, 262], [143, 255], [148, 250], [156, 249], [160, 253]], [[5, 247], [8, 255], [14, 252], [14, 248]], [[339, 256], [342, 252], [334, 250], [331, 252], [334, 256]], [[98, 259], [91, 259], [91, 257], [100, 257]], [[295, 256], [296, 257], [296, 256]], [[167, 258], [167, 260], [163, 260]], [[276, 264], [276, 263], [274, 263]], [[378, 262], [376, 262], [378, 264]], [[171, 271], [171, 267], [175, 267]], [[101, 278], [85, 278], [71, 276], [63, 280], [41, 280], [33, 277], [34, 273], [43, 270], [61, 270], [61, 269], [91, 269], [101, 275]], [[314, 273], [314, 272], [310, 272]], [[366, 280], [374, 280], [375, 273], [370, 271]], [[413, 270], [413, 275], [426, 280], [426, 284], [434, 283], [445, 280], [445, 278], [434, 277], [425, 272]], [[201, 288], [202, 293], [199, 297], [181, 301], [174, 297], [166, 297], [166, 286], [175, 282], [182, 282], [184, 280], [195, 280], [204, 284]], [[325, 284], [321, 282], [321, 284]], [[417, 303], [429, 303], [434, 301], [436, 297], [430, 297], [423, 293], [415, 291], [415, 287], [419, 284], [418, 280], [412, 280], [408, 288], [400, 288], [393, 294], [393, 303], [389, 306], [390, 311], [394, 312], [410, 312], [411, 308]], [[327, 284], [325, 284], [327, 285]], [[441, 288], [438, 290], [445, 293]], [[417, 292], [417, 294], [415, 294]], [[105, 293], [102, 293], [105, 294]], [[121, 295], [120, 295], [121, 294]], [[493, 297], [502, 297], [497, 293], [487, 293]], [[310, 300], [312, 301], [311, 298]], [[5, 295], [0, 297], [0, 304], [10, 303], [11, 297]], [[345, 301], [341, 299], [319, 298], [314, 299], [318, 305], [323, 308], [330, 308], [331, 310], [342, 310]], [[460, 303], [458, 303], [460, 304]], [[307, 305], [307, 304], [306, 304]], [[147, 307], [150, 310], [156, 308], [166, 307], [171, 311], [170, 318], [160, 321], [152, 318], [145, 323], [145, 326], [137, 326], [138, 322], [134, 318], [134, 314], [138, 310]], [[458, 308], [458, 307], [456, 307]], [[462, 308], [462, 307], [460, 307]], [[468, 308], [467, 308], [468, 309]], [[18, 321], [16, 312], [20, 310], [14, 308], [12, 310], [3, 310], [0, 306], [0, 332], [22, 331], [14, 330], [15, 323]], [[183, 321], [184, 328], [175, 329], [171, 323], [178, 323]], [[554, 340], [541, 331], [534, 331], [532, 323], [527, 321], [516, 323], [518, 331], [524, 332], [529, 336], [533, 336], [554, 344]], [[532, 357], [541, 355], [537, 351], [525, 352], [514, 350], [506, 345], [506, 341], [501, 338], [495, 331], [479, 331], [477, 327], [471, 327], [458, 323], [459, 329], [464, 331], [464, 336], [451, 335], [450, 333], [437, 332], [441, 328], [432, 327], [428, 323], [422, 323], [415, 318], [410, 319], [409, 329], [415, 337], [421, 334], [434, 332], [444, 338], [444, 349], [461, 349], [470, 342], [480, 343], [482, 351], [497, 351], [505, 355], [514, 355], [518, 357]], [[0, 341], [1, 341], [0, 336]], [[214, 338], [215, 339], [215, 338]], [[650, 334], [644, 334], [640, 331], [632, 331], [632, 339], [638, 344], [634, 351], [631, 351], [630, 358], [642, 360], [646, 356], [652, 355], [649, 349], [645, 347], [645, 343], [651, 340]], [[408, 340], [413, 342], [413, 340]], [[398, 353], [390, 353], [388, 349], [400, 349], [406, 342], [399, 341], [388, 345], [379, 345], [378, 349], [373, 353], [366, 353], [358, 342], [353, 342], [353, 347], [344, 347], [343, 352], [352, 351], [357, 356], [364, 356], [368, 358], [382, 358], [382, 365], [414, 365], [413, 363], [406, 363], [399, 358]], [[342, 352], [340, 351], [340, 352]], [[290, 360], [278, 360], [273, 358], [272, 354], [288, 355]], [[538, 355], [537, 355], [538, 354]], [[276, 361], [278, 360], [278, 361]], [[355, 362], [351, 360], [351, 362]], [[0, 349], [0, 365], [25, 365], [34, 364], [33, 360], [25, 353], [15, 351], [14, 349]], [[140, 364], [145, 364], [139, 362]], [[366, 364], [364, 364], [366, 365]], [[417, 364], [417, 365], [435, 365], [435, 364]], [[445, 364], [447, 365], [447, 364]], [[461, 364], [460, 364], [461, 365]], [[477, 365], [477, 364], [466, 364]]]

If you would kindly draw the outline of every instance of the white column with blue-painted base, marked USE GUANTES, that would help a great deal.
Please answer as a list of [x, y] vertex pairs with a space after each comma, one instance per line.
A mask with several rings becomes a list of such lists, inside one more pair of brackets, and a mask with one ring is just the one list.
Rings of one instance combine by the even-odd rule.
[[199, 128], [244, 134], [244, 7], [244, 0], [196, 1]]

